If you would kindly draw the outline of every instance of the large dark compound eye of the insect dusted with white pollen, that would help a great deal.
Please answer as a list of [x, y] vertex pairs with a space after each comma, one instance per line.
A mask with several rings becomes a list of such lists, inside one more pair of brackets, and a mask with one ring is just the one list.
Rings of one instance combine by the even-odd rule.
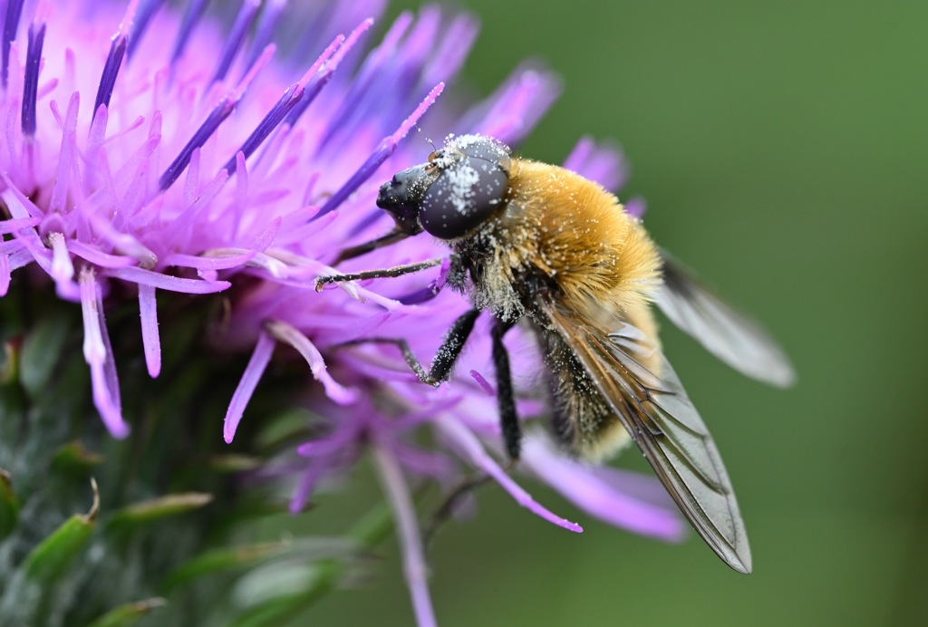
[[458, 160], [439, 174], [422, 198], [423, 228], [435, 237], [454, 239], [483, 224], [506, 195], [508, 171], [509, 163], [504, 169], [498, 158]]

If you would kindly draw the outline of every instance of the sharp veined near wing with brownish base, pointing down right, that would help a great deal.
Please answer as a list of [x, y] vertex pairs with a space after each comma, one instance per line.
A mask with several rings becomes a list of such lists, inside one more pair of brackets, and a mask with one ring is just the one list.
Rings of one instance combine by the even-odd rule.
[[541, 304], [693, 528], [728, 566], [751, 572], [751, 548], [722, 458], [664, 356], [656, 355], [658, 377], [642, 365], [657, 349], [637, 327], [608, 332], [553, 302]]

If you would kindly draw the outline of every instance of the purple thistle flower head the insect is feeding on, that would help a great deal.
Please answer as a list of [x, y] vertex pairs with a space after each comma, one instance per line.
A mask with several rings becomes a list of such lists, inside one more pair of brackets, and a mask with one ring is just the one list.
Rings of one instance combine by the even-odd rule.
[[[36, 266], [58, 297], [80, 303], [94, 403], [112, 436], [124, 438], [131, 425], [122, 416], [104, 305], [137, 290], [148, 374], [158, 377], [161, 341], [171, 336], [171, 322], [158, 320], [159, 290], [225, 292], [227, 320], [204, 333], [217, 347], [251, 352], [229, 403], [226, 441], [248, 419], [266, 366], [295, 349], [321, 384], [309, 402], [327, 416], [328, 430], [296, 452], [303, 464], [291, 509], [371, 450], [416, 615], [428, 625], [434, 616], [410, 478], [450, 487], [462, 467], [480, 471], [536, 515], [582, 530], [536, 503], [497, 462], [496, 392], [482, 374], [491, 364], [485, 320], [458, 376], [438, 390], [422, 385], [392, 346], [339, 348], [374, 335], [405, 338], [420, 360], [431, 358], [468, 308], [441, 289], [446, 266], [321, 293], [315, 279], [446, 256], [422, 236], [332, 267], [344, 248], [390, 229], [374, 204], [378, 187], [422, 160], [424, 138], [482, 133], [518, 145], [560, 87], [548, 71], [523, 66], [483, 102], [453, 109], [439, 96], [466, 57], [474, 20], [430, 6], [418, 18], [403, 14], [372, 43], [368, 16], [382, 3], [350, 4], [319, 8], [319, 27], [307, 23], [290, 36], [296, 45], [285, 55], [274, 44], [287, 21], [282, 2], [262, 9], [244, 0], [223, 32], [201, 0], [183, 14], [136, 1], [40, 2], [32, 15], [10, 0], [0, 294], [12, 288], [11, 275], [27, 280], [15, 271]], [[422, 134], [407, 136], [414, 129]], [[588, 139], [565, 164], [611, 188], [625, 179], [621, 154]], [[540, 364], [533, 339], [515, 329], [507, 343], [513, 372], [525, 373], [516, 378], [520, 416], [543, 415], [533, 395]], [[422, 427], [434, 429], [435, 451], [411, 443]], [[656, 481], [580, 465], [541, 430], [530, 431], [521, 469], [612, 524], [666, 540], [683, 532]]]

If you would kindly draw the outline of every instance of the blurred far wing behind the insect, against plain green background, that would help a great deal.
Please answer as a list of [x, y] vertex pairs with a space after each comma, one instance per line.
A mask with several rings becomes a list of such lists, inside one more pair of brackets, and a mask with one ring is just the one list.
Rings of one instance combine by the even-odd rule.
[[661, 256], [664, 285], [654, 302], [671, 322], [742, 374], [780, 388], [793, 384], [793, 365], [762, 326], [704, 287], [665, 250]]

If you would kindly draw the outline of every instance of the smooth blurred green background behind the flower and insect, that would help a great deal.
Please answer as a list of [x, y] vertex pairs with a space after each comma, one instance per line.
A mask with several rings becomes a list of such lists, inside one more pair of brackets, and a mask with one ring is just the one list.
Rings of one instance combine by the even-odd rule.
[[[402, 6], [418, 3], [389, 16]], [[466, 68], [479, 95], [523, 58], [563, 78], [523, 154], [559, 162], [582, 134], [620, 142], [624, 196], [648, 199], [651, 233], [765, 321], [799, 383], [767, 389], [664, 334], [737, 487], [754, 574], [694, 535], [617, 531], [538, 485], [586, 532], [484, 488], [479, 515], [435, 546], [440, 623], [928, 624], [928, 4], [465, 7], [483, 24]], [[647, 471], [637, 454], [615, 464]], [[369, 504], [367, 482], [352, 491]], [[376, 571], [308, 620], [411, 624], [393, 542]]]

